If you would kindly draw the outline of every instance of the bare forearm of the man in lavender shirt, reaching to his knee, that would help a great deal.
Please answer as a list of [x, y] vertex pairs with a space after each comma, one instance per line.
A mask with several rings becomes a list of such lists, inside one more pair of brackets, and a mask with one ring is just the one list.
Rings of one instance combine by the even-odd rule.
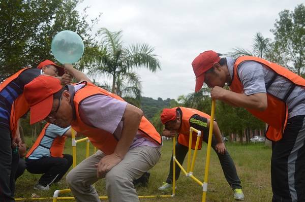
[[121, 138], [119, 139], [114, 150], [114, 154], [121, 159], [123, 159], [126, 155], [133, 139], [136, 136], [142, 116], [142, 110], [129, 104], [126, 106], [125, 113], [123, 115], [123, 129]]

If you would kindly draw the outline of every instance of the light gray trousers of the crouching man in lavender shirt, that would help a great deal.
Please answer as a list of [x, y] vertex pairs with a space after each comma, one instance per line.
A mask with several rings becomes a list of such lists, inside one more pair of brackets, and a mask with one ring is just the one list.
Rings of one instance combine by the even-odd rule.
[[[138, 179], [151, 169], [161, 157], [160, 147], [141, 146], [129, 150], [124, 159], [106, 174], [106, 191], [110, 202], [139, 201], [133, 186], [133, 180]], [[97, 178], [95, 166], [105, 154], [98, 150], [89, 156], [66, 177], [66, 181], [76, 201], [101, 201], [93, 184]]]

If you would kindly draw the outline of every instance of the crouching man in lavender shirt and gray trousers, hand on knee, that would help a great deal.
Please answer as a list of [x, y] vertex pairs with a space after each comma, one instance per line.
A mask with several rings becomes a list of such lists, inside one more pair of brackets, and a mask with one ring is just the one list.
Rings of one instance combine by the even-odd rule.
[[161, 136], [142, 110], [92, 83], [72, 65], [66, 70], [81, 81], [62, 88], [40, 76], [24, 87], [31, 106], [31, 124], [40, 120], [71, 125], [99, 150], [66, 177], [77, 201], [100, 201], [93, 184], [106, 179], [109, 201], [139, 201], [133, 180], [151, 169], [161, 156]]

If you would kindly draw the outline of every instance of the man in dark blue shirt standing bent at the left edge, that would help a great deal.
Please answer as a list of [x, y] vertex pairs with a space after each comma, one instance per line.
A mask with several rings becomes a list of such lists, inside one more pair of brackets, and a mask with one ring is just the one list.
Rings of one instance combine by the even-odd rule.
[[14, 201], [16, 169], [13, 168], [18, 165], [18, 146], [21, 146], [19, 118], [29, 109], [24, 99], [24, 85], [42, 73], [54, 76], [64, 84], [71, 83], [69, 75], [65, 79], [57, 77], [64, 74], [64, 69], [50, 60], [41, 62], [38, 67], [24, 68], [0, 84], [0, 198], [5, 201]]

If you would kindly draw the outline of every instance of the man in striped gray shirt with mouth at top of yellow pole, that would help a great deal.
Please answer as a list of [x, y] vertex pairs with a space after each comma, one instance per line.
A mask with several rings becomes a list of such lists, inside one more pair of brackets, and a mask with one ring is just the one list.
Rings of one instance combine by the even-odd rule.
[[268, 124], [272, 201], [305, 201], [305, 80], [259, 57], [220, 58], [211, 50], [199, 54], [192, 66], [196, 92], [206, 83], [213, 99], [246, 108]]

